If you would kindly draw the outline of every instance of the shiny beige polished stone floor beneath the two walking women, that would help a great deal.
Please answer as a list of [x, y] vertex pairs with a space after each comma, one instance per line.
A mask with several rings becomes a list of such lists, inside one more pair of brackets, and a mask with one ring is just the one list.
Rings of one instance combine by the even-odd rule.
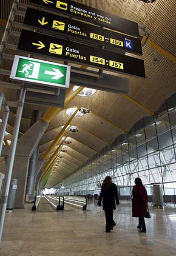
[[[0, 256], [176, 256], [176, 208], [151, 209], [147, 234], [139, 233], [131, 205], [114, 212], [116, 227], [105, 233], [105, 217], [97, 202], [88, 211], [70, 206], [56, 212], [31, 212], [31, 205], [6, 215]], [[48, 209], [48, 210], [47, 210]]]

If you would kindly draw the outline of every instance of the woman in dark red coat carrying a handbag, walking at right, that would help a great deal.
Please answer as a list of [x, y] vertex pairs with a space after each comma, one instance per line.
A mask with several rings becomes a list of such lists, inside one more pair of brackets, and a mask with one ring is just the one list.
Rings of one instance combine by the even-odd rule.
[[139, 228], [140, 232], [146, 233], [144, 217], [147, 214], [148, 195], [140, 178], [135, 179], [135, 184], [136, 185], [133, 186], [132, 213], [133, 217], [139, 218], [137, 228]]

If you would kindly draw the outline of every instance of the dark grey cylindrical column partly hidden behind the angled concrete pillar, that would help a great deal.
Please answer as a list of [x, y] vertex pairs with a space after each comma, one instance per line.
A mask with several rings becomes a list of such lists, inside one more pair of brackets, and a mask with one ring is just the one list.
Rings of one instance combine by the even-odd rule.
[[[34, 110], [31, 118], [31, 126], [41, 117], [41, 112], [39, 110]], [[38, 159], [38, 145], [32, 154], [29, 161], [28, 169], [28, 179], [26, 185], [26, 202], [34, 202], [34, 176], [35, 176], [35, 167]]]

